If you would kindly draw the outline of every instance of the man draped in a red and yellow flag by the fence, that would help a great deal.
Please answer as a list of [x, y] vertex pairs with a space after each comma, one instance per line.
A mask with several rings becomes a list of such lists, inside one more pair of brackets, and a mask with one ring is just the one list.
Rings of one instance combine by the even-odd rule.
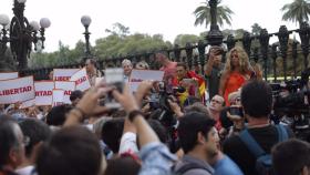
[[197, 75], [194, 71], [187, 70], [185, 63], [179, 62], [176, 66], [176, 75], [173, 79], [173, 86], [182, 86], [185, 89], [184, 93], [178, 93], [177, 97], [180, 105], [184, 105], [184, 102], [188, 96], [200, 97], [204, 100], [205, 94], [205, 80]]

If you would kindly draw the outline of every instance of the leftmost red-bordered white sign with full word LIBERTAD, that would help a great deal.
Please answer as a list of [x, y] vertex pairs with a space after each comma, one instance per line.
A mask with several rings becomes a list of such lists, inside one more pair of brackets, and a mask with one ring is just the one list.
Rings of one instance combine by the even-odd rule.
[[34, 99], [33, 76], [0, 81], [0, 104], [24, 102]]

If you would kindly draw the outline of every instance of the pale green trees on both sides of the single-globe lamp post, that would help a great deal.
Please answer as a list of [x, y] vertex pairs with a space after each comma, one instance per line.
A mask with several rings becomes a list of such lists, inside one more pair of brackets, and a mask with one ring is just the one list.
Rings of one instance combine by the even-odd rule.
[[[162, 34], [130, 34], [130, 28], [121, 23], [113, 24], [113, 29], [107, 29], [106, 32], [110, 35], [96, 40], [95, 45], [93, 48], [91, 47], [91, 53], [101, 60], [173, 47], [170, 42], [164, 41]], [[60, 41], [59, 50], [55, 52], [31, 53], [29, 66], [44, 68], [79, 63], [85, 55], [84, 50], [85, 43], [82, 41], [79, 41], [72, 50]]]

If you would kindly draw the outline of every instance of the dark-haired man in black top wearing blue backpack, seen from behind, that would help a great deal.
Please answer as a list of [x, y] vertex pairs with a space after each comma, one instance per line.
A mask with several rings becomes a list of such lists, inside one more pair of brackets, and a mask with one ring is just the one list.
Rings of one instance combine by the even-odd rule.
[[[249, 133], [265, 153], [270, 154], [271, 147], [279, 142], [279, 133], [292, 137], [291, 130], [269, 123], [272, 109], [272, 91], [266, 82], [255, 80], [245, 84], [241, 90], [241, 104], [248, 120], [247, 128], [242, 132]], [[236, 162], [245, 174], [255, 175], [258, 171], [256, 169], [258, 157], [241, 140], [240, 135], [231, 136], [224, 142], [224, 153]]]

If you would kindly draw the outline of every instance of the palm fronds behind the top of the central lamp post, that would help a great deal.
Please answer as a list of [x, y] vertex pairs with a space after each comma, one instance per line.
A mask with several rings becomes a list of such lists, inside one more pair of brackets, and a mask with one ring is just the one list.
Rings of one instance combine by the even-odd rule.
[[[221, 1], [219, 0], [218, 3]], [[202, 2], [202, 6], [197, 7], [194, 11], [194, 14], [196, 17], [195, 20], [195, 27], [205, 24], [206, 28], [210, 24], [211, 16], [210, 16], [210, 6], [207, 2]], [[217, 23], [223, 27], [224, 23], [227, 23], [231, 25], [231, 17], [230, 14], [234, 14], [234, 11], [230, 10], [226, 6], [218, 6], [217, 7]]]

